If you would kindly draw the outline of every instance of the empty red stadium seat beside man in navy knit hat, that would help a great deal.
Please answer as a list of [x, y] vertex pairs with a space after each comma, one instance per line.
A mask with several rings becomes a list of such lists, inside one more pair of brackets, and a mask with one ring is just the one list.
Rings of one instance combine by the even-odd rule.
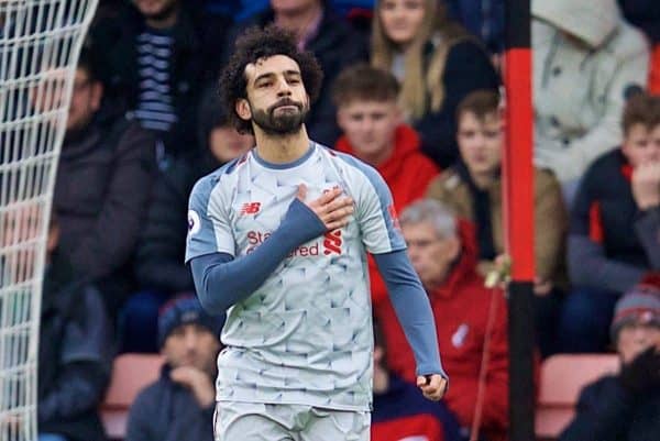
[[121, 354], [114, 359], [110, 387], [101, 404], [101, 420], [111, 440], [122, 440], [131, 404], [146, 385], [158, 378], [163, 356], [157, 354]]

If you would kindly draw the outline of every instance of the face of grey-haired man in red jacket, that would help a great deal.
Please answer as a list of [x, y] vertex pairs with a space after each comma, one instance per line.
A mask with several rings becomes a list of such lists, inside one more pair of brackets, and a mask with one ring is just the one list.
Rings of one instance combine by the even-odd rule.
[[424, 287], [430, 290], [442, 285], [459, 255], [459, 240], [440, 238], [431, 222], [405, 223], [402, 231], [410, 262]]

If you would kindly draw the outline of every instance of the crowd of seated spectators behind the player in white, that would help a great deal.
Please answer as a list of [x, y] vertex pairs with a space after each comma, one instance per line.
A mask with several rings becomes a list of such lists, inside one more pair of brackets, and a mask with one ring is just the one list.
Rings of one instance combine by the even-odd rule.
[[[532, 0], [531, 13], [537, 348], [605, 352], [614, 339], [623, 363], [584, 392], [562, 439], [592, 439], [581, 433], [594, 427], [660, 439], [660, 8]], [[400, 438], [505, 440], [507, 305], [484, 286], [507, 234], [504, 1], [106, 0], [76, 68], [55, 184], [42, 339], [61, 346], [42, 346], [40, 364], [59, 367], [40, 372], [40, 441], [102, 440], [94, 408], [117, 352], [166, 360], [134, 404], [129, 441], [212, 439], [221, 319], [201, 310], [184, 265], [187, 201], [198, 178], [253, 146], [217, 80], [237, 35], [270, 23], [323, 69], [310, 137], [391, 187], [451, 377], [431, 410], [409, 387], [413, 353], [371, 262], [374, 441], [398, 439], [394, 426], [410, 429]], [[615, 425], [615, 411], [641, 422], [600, 422]], [[645, 430], [657, 437], [636, 438]]]

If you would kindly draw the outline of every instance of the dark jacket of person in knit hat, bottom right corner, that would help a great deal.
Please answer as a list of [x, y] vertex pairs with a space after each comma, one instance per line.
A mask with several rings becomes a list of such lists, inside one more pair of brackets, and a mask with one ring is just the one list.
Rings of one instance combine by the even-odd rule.
[[[559, 379], [561, 381], [561, 379]], [[660, 389], [630, 395], [617, 377], [608, 376], [580, 394], [578, 414], [559, 441], [660, 440]]]

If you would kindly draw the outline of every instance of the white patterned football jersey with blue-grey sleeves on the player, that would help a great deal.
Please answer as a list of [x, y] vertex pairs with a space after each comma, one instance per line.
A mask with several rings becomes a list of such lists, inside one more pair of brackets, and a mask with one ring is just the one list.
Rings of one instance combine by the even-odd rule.
[[228, 310], [217, 398], [367, 410], [373, 335], [365, 252], [405, 249], [392, 195], [374, 168], [316, 143], [286, 165], [252, 150], [195, 186], [186, 262], [251, 253], [279, 227], [300, 184], [307, 201], [339, 186], [355, 211], [346, 227], [290, 252]]

